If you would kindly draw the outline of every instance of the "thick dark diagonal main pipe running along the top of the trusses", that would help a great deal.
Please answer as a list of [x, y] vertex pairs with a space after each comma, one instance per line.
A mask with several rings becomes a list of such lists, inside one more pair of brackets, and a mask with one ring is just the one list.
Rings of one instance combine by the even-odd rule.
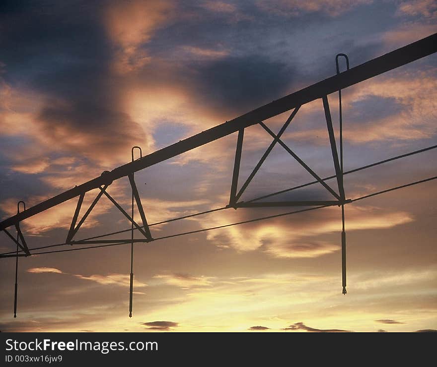
[[41, 213], [44, 210], [52, 208], [53, 206], [70, 200], [73, 197], [80, 195], [82, 192], [87, 192], [104, 184], [110, 184], [112, 181], [128, 176], [133, 172], [140, 171], [146, 167], [150, 167], [191, 149], [210, 143], [223, 136], [229, 135], [241, 128], [257, 124], [260, 121], [282, 114], [297, 106], [322, 98], [330, 93], [337, 92], [339, 89], [344, 89], [409, 62], [434, 54], [436, 51], [437, 33], [391, 51], [376, 59], [364, 62], [361, 65], [355, 66], [338, 75], [319, 81], [318, 83], [312, 84], [297, 92], [291, 93], [288, 96], [268, 103], [267, 105], [259, 107], [231, 121], [224, 122], [208, 130], [202, 131], [199, 134], [157, 150], [156, 152], [146, 155], [142, 159], [117, 167], [111, 172], [106, 171], [93, 180], [75, 186], [74, 188], [43, 201], [42, 203], [39, 203], [13, 217], [5, 219], [0, 222], [0, 231], [18, 221], [22, 221], [35, 214]]

